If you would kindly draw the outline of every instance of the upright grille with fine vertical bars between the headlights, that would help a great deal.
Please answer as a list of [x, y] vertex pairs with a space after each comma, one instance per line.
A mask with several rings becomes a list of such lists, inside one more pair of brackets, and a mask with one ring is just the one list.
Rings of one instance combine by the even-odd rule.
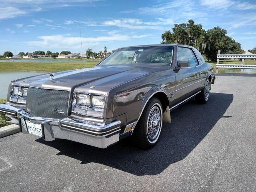
[[68, 116], [68, 98], [68, 91], [29, 87], [26, 112], [37, 117], [62, 119]]

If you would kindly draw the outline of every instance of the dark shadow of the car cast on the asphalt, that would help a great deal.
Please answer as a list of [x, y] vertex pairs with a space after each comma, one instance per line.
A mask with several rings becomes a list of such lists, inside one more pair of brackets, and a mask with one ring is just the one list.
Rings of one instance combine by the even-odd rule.
[[233, 101], [233, 94], [211, 93], [207, 104], [197, 104], [194, 99], [171, 113], [172, 124], [164, 124], [158, 144], [150, 150], [140, 150], [128, 139], [106, 149], [77, 142], [56, 139], [37, 142], [56, 148], [57, 155], [81, 161], [96, 162], [137, 176], [156, 175], [171, 164], [184, 159], [210, 132]]

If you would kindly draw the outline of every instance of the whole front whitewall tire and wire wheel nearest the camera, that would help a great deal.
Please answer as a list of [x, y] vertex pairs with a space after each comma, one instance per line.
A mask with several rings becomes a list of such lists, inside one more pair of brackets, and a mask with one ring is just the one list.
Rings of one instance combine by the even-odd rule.
[[152, 148], [158, 142], [162, 122], [162, 104], [157, 98], [152, 98], [144, 108], [142, 116], [132, 133], [133, 143], [142, 149]]

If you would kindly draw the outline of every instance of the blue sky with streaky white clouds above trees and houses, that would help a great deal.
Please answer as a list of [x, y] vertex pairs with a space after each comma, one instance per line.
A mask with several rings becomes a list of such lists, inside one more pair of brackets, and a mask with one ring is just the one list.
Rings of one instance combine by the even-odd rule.
[[[240, 0], [0, 0], [0, 54], [51, 50], [108, 51], [159, 44], [174, 23], [193, 19], [205, 29], [220, 26], [242, 44], [256, 47], [256, 1]], [[79, 27], [80, 25], [80, 27]], [[80, 29], [80, 30], [79, 30]]]

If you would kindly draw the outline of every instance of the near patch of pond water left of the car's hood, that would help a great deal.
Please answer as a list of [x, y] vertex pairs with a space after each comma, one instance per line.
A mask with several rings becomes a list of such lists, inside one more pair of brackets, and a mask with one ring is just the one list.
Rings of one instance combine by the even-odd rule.
[[7, 91], [10, 81], [30, 77], [34, 75], [40, 75], [44, 73], [40, 72], [0, 72], [0, 98], [7, 97]]

